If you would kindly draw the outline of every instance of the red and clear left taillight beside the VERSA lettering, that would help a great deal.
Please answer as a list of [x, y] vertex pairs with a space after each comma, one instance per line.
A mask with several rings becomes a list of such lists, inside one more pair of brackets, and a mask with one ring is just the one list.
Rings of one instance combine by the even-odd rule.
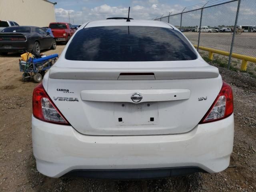
[[33, 91], [33, 115], [42, 121], [70, 125], [54, 105], [42, 83], [38, 84]]

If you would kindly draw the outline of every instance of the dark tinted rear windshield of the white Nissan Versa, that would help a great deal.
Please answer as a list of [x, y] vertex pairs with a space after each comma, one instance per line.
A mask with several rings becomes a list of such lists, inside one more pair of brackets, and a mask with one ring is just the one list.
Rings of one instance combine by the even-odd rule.
[[177, 30], [149, 26], [102, 26], [79, 30], [66, 59], [81, 61], [194, 60], [196, 53]]

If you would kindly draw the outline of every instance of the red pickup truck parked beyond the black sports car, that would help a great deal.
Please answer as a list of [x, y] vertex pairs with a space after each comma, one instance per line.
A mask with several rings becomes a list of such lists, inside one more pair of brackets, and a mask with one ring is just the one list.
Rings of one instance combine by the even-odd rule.
[[76, 29], [70, 23], [50, 23], [49, 28], [57, 42], [68, 42], [72, 35], [76, 32]]

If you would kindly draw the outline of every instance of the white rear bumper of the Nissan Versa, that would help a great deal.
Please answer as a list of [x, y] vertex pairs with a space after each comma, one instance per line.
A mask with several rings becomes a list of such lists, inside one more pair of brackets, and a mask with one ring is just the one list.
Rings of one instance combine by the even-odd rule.
[[[90, 174], [93, 170], [130, 170], [138, 174], [144, 169], [163, 168], [171, 171], [162, 176], [172, 176], [174, 168], [187, 167], [216, 173], [229, 165], [233, 137], [233, 114], [217, 122], [200, 124], [185, 134], [156, 136], [86, 136], [71, 126], [32, 117], [36, 166], [50, 177], [60, 177], [73, 170], [95, 177]], [[147, 178], [143, 175], [139, 178]], [[132, 174], [128, 176], [125, 178], [134, 178]], [[106, 177], [114, 178], [109, 174]]]

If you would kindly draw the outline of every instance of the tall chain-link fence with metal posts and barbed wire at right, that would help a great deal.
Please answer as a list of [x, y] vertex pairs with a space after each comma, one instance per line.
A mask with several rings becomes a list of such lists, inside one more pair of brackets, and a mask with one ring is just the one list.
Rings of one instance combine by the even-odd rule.
[[206, 61], [256, 77], [256, 0], [209, 0], [155, 20], [184, 32]]

